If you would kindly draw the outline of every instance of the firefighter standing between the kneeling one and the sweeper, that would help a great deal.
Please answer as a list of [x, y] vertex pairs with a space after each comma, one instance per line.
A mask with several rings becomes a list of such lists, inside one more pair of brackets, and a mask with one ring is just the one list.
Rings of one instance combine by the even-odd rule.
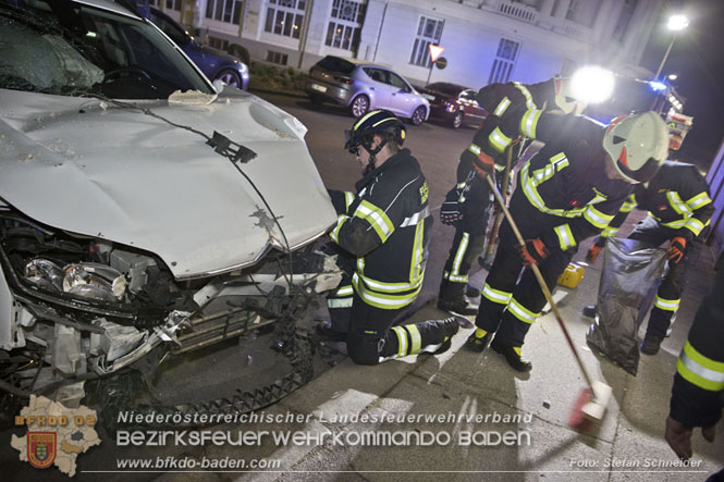
[[491, 84], [480, 89], [477, 100], [488, 111], [488, 118], [475, 134], [470, 146], [461, 155], [457, 184], [447, 193], [440, 208], [440, 220], [443, 224], [455, 226], [455, 236], [443, 268], [438, 308], [463, 316], [478, 311], [478, 306], [465, 296], [465, 287], [470, 265], [484, 246], [490, 202], [488, 184], [476, 175], [475, 170], [474, 160], [481, 153], [480, 146], [494, 148], [490, 156], [495, 163], [495, 171], [504, 171], [506, 161], [499, 125], [506, 112], [519, 106], [527, 109], [559, 109], [564, 113], [580, 113], [586, 108], [584, 102], [572, 97], [569, 79], [559, 77], [531, 85], [517, 82]]

